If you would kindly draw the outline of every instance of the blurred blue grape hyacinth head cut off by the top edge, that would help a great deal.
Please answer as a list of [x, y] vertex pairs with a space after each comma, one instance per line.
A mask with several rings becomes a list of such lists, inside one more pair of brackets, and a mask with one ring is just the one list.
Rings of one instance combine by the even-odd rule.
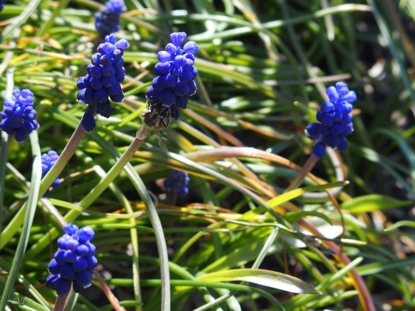
[[105, 2], [105, 6], [99, 12], [95, 13], [95, 27], [102, 39], [120, 29], [122, 7], [124, 7], [124, 1], [110, 0]]

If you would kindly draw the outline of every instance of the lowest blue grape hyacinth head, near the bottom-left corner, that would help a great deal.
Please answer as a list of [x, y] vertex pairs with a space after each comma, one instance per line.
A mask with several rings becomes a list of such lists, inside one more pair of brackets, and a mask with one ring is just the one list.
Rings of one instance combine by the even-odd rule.
[[58, 239], [58, 250], [49, 262], [51, 273], [46, 278], [46, 285], [56, 290], [59, 296], [73, 291], [82, 294], [84, 289], [91, 286], [92, 275], [97, 266], [95, 245], [90, 243], [95, 233], [90, 226], [78, 229], [76, 225], [68, 224], [63, 227], [66, 232]]

